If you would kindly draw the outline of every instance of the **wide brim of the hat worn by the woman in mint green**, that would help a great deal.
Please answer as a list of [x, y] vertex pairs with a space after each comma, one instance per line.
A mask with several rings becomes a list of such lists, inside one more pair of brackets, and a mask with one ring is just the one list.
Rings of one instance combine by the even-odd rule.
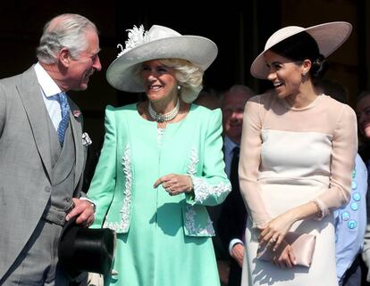
[[144, 61], [182, 59], [206, 70], [217, 56], [217, 46], [206, 37], [165, 37], [132, 48], [115, 59], [106, 71], [111, 86], [131, 93], [143, 92], [143, 86], [135, 75], [135, 66]]

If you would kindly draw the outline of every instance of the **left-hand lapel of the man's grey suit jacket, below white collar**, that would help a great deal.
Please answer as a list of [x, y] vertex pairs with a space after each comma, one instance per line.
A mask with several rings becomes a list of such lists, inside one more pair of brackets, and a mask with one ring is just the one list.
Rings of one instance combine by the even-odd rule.
[[42, 98], [41, 90], [38, 84], [33, 66], [23, 73], [20, 86], [17, 86], [18, 92], [29, 118], [33, 137], [35, 139], [38, 153], [44, 163], [47, 175], [51, 175], [51, 158], [47, 127], [46, 108]]

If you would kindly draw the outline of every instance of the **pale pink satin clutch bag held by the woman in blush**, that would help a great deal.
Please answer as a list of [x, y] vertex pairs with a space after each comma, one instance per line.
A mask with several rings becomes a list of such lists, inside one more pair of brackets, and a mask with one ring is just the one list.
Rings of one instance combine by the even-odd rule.
[[[288, 232], [285, 235], [287, 241], [294, 251], [299, 266], [311, 266], [314, 256], [316, 237], [313, 234]], [[276, 250], [277, 253], [278, 250]], [[257, 249], [258, 259], [273, 261], [274, 253], [271, 246], [262, 246]]]

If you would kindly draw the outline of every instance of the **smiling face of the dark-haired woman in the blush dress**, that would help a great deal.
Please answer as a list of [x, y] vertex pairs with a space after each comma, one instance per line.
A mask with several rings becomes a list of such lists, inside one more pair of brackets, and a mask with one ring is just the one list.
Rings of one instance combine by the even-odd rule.
[[269, 69], [267, 79], [273, 83], [279, 98], [299, 94], [302, 74], [307, 72], [304, 63], [291, 61], [272, 51], [265, 53], [265, 61]]

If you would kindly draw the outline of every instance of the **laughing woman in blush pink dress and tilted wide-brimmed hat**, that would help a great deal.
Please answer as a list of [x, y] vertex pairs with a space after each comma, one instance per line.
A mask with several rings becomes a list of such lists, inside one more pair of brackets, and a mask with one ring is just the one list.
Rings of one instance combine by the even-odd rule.
[[[246, 105], [240, 190], [248, 208], [242, 285], [334, 286], [332, 210], [349, 201], [357, 152], [355, 112], [314, 86], [325, 57], [348, 37], [348, 22], [278, 30], [251, 66], [273, 89]], [[309, 267], [297, 263], [288, 232], [315, 235]], [[258, 247], [273, 259], [256, 257]]]

